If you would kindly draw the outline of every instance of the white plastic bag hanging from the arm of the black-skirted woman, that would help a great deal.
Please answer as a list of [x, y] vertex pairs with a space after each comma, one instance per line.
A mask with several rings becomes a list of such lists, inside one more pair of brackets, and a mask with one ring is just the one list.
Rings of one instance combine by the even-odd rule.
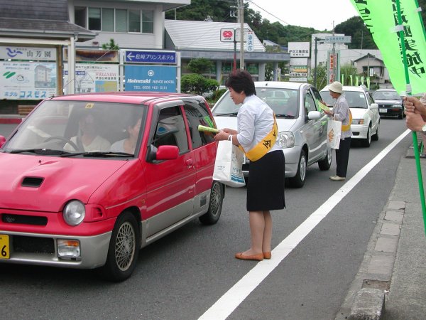
[[246, 186], [243, 176], [244, 154], [229, 140], [219, 141], [216, 161], [214, 161], [213, 180], [222, 182], [226, 186]]

